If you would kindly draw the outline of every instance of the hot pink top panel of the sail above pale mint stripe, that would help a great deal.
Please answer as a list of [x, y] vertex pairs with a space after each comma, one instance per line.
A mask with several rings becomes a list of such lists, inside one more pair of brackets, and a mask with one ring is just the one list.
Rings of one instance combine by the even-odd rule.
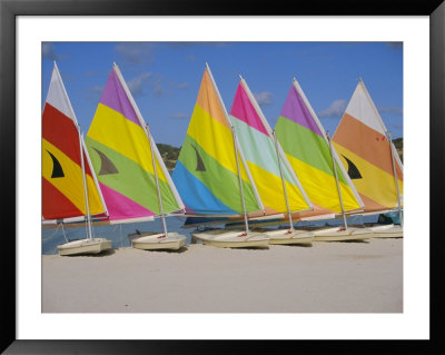
[[238, 85], [235, 93], [230, 115], [259, 130], [261, 134], [269, 136], [241, 83]]

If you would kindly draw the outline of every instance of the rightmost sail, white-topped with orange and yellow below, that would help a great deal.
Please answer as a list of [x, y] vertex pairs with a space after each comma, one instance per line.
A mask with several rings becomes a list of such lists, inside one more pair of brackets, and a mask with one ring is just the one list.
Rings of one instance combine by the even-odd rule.
[[403, 195], [402, 161], [386, 134], [385, 124], [360, 80], [333, 136], [333, 144], [367, 213], [397, 208], [397, 185]]

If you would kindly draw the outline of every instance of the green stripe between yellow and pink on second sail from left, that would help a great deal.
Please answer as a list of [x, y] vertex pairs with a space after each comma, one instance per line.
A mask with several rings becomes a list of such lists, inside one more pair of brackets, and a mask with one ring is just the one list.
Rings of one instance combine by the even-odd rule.
[[[156, 180], [154, 175], [142, 169], [134, 160], [89, 138], [88, 136], [86, 138], [86, 145], [96, 175], [101, 184], [107, 185], [108, 187], [122, 194], [129, 199], [148, 208], [149, 210], [152, 210], [158, 215], [160, 214], [159, 203], [157, 198]], [[118, 171], [117, 174], [99, 174], [102, 161], [95, 148], [105, 154], [110, 159]], [[144, 188], [141, 188], [141, 186], [144, 186]], [[180, 207], [176, 201], [170, 186], [159, 179], [159, 188], [162, 197], [164, 211], [170, 213], [179, 210]]]

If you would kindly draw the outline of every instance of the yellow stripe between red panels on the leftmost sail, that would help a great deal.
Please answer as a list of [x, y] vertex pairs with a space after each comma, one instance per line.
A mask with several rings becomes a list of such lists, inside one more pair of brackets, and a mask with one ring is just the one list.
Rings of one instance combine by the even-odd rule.
[[[60, 164], [63, 171], [62, 177], [52, 177], [53, 160], [49, 152], [51, 152], [51, 155], [53, 155]], [[83, 175], [81, 167], [46, 139], [42, 139], [42, 177], [61, 194], [63, 194], [65, 197], [68, 198], [83, 215], [87, 215]], [[91, 178], [91, 176], [86, 174], [86, 181], [88, 188], [90, 215], [103, 213], [103, 206], [101, 204], [95, 180]]]

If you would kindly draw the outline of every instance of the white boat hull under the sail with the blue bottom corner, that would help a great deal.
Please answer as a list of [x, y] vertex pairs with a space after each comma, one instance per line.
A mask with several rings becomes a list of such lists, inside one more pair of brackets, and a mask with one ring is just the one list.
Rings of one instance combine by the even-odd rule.
[[191, 236], [218, 248], [267, 248], [269, 244], [269, 238], [258, 231], [249, 231], [246, 236], [244, 230], [208, 229], [195, 231]]

